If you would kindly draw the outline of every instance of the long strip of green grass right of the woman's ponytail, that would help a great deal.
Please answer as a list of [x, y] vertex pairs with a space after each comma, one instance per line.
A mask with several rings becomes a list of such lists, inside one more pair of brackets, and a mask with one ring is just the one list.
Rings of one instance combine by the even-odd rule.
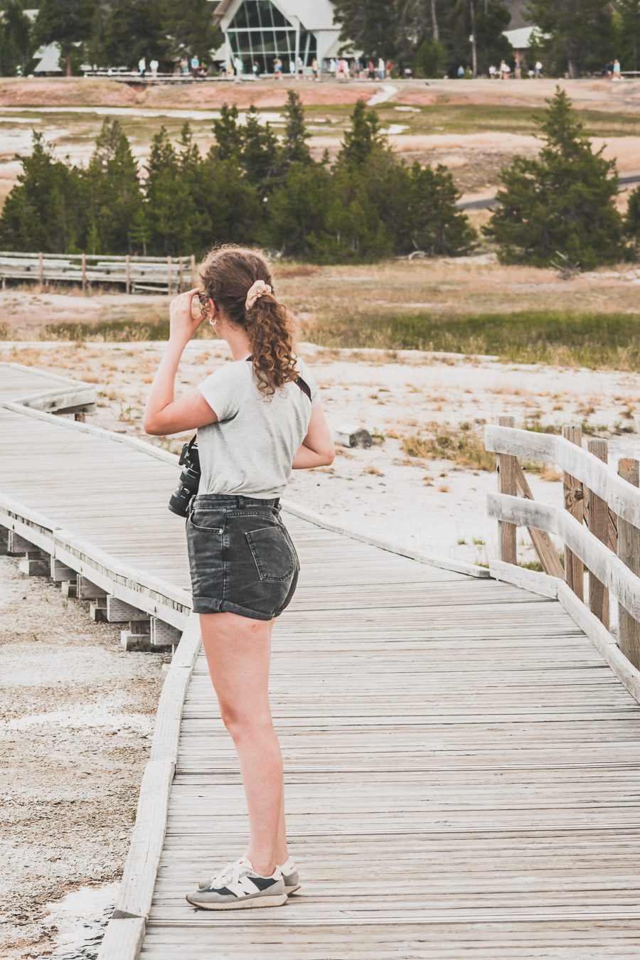
[[302, 324], [302, 336], [324, 347], [489, 353], [517, 363], [640, 371], [638, 313], [369, 313]]

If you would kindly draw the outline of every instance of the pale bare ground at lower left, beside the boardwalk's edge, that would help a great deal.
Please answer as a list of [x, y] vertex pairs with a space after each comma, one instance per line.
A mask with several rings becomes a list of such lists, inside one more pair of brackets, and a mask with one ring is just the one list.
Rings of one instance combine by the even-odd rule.
[[58, 901], [80, 891], [86, 911], [106, 891], [99, 929], [129, 849], [168, 658], [126, 653], [119, 629], [17, 566], [0, 557], [0, 955], [78, 960], [91, 955], [82, 940], [57, 949]]

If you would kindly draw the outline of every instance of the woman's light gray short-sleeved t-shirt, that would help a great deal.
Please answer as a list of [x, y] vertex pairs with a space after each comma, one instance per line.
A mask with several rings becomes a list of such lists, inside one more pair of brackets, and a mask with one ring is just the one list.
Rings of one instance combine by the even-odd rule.
[[299, 357], [296, 368], [309, 385], [311, 401], [296, 383], [265, 398], [247, 359], [225, 363], [198, 384], [218, 415], [216, 423], [198, 428], [199, 493], [245, 493], [267, 500], [285, 490], [312, 407], [320, 404], [315, 377]]

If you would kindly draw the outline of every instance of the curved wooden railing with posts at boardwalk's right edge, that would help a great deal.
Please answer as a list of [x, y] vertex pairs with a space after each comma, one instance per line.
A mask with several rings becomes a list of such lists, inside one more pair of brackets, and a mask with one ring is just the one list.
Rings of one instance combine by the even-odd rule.
[[[617, 474], [607, 466], [607, 444], [588, 439], [581, 427], [562, 435], [517, 430], [501, 417], [485, 430], [494, 452], [500, 492], [487, 494], [487, 511], [499, 524], [499, 560], [489, 563], [497, 579], [557, 596], [595, 638], [616, 644], [635, 668], [640, 692], [640, 489], [638, 461], [620, 460]], [[564, 505], [536, 503], [519, 457], [555, 464], [563, 473]], [[544, 573], [517, 565], [516, 530], [527, 527]], [[563, 564], [550, 535], [563, 545]], [[585, 568], [588, 573], [585, 600]], [[609, 594], [618, 603], [617, 640], [609, 633]], [[587, 615], [588, 614], [588, 615]], [[595, 621], [595, 622], [594, 622]], [[587, 629], [587, 626], [590, 629]], [[606, 636], [604, 636], [604, 631]], [[611, 651], [610, 651], [611, 652]], [[628, 673], [628, 671], [627, 671]], [[635, 676], [637, 674], [637, 677]], [[621, 678], [624, 680], [624, 678]]]

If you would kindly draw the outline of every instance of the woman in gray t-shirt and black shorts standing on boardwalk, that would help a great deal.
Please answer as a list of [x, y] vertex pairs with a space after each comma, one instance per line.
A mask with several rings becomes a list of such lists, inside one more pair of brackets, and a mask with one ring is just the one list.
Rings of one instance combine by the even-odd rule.
[[[282, 757], [269, 702], [276, 616], [296, 589], [299, 563], [280, 518], [291, 469], [320, 467], [335, 450], [318, 387], [296, 356], [293, 322], [277, 300], [264, 256], [211, 252], [202, 290], [173, 300], [169, 343], [144, 427], [165, 435], [198, 428], [201, 481], [186, 533], [194, 611], [211, 680], [247, 795], [249, 848], [187, 900], [205, 909], [277, 906], [298, 889], [287, 851]], [[192, 301], [202, 313], [193, 318]], [[174, 399], [180, 357], [208, 319], [233, 362]]]

